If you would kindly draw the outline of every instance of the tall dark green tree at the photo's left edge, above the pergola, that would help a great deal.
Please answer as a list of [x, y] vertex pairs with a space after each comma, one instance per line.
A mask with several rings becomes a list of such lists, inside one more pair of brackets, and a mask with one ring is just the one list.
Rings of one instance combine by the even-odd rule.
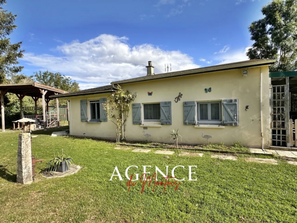
[[[6, 4], [6, 0], [0, 0], [0, 6]], [[19, 64], [18, 58], [23, 57], [24, 50], [21, 50], [22, 42], [11, 44], [8, 36], [17, 28], [14, 25], [17, 15], [8, 13], [0, 7], [0, 84], [6, 82], [7, 76], [20, 72], [23, 67]]]

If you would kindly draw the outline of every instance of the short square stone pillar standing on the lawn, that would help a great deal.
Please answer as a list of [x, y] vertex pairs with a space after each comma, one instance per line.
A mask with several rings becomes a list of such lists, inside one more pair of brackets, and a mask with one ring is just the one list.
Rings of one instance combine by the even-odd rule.
[[23, 184], [33, 182], [30, 133], [21, 133], [19, 135], [17, 182]]

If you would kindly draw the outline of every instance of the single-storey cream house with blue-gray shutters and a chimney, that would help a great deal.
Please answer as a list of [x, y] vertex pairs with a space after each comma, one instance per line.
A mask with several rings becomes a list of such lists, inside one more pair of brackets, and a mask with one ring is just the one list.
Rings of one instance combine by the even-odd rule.
[[212, 144], [269, 148], [274, 139], [274, 146], [283, 146], [277, 142], [279, 135], [272, 137], [269, 65], [274, 62], [257, 59], [155, 74], [150, 61], [146, 76], [52, 97], [70, 100], [73, 136], [115, 139], [115, 125], [107, 120], [102, 103], [120, 85], [137, 92], [125, 126], [126, 140], [173, 143], [170, 130], [179, 129], [184, 144], [206, 144], [203, 132], [212, 136]]

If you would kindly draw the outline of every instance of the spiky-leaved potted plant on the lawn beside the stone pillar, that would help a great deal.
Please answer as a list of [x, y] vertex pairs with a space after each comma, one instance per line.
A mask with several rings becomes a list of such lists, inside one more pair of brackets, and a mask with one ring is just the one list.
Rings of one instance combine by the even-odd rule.
[[64, 154], [62, 150], [62, 155], [60, 156], [60, 154], [58, 154], [57, 156], [55, 156], [54, 154], [54, 158], [47, 163], [45, 168], [42, 169], [42, 172], [55, 171], [63, 173], [69, 170], [69, 165], [71, 164], [71, 162], [71, 157], [67, 154]]

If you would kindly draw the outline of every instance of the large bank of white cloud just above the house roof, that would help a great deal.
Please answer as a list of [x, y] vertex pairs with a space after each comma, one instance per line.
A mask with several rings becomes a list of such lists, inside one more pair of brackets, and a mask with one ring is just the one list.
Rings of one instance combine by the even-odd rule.
[[164, 51], [151, 44], [128, 45], [128, 38], [100, 35], [80, 43], [57, 46], [56, 55], [24, 53], [22, 60], [42, 70], [61, 72], [80, 83], [82, 89], [107, 85], [111, 81], [145, 76], [147, 61], [153, 61], [155, 73], [164, 73], [164, 64], [172, 71], [199, 67], [193, 58], [180, 51]]

